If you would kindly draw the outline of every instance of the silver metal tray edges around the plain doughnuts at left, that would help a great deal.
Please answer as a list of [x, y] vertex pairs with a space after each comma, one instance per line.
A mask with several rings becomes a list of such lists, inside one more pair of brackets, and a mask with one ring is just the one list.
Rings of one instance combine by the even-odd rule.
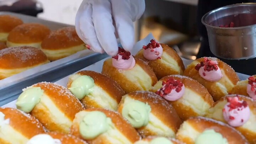
[[[50, 30], [57, 30], [62, 27], [71, 26], [12, 12], [0, 12], [0, 15], [16, 16], [21, 18], [24, 23], [41, 23], [49, 27]], [[106, 57], [107, 54], [98, 54], [91, 50], [82, 50], [76, 54], [70, 55], [69, 57], [37, 66], [36, 68], [32, 68], [9, 78], [0, 80], [0, 102], [9, 97], [14, 97], [20, 94], [21, 88], [41, 81], [55, 82]]]

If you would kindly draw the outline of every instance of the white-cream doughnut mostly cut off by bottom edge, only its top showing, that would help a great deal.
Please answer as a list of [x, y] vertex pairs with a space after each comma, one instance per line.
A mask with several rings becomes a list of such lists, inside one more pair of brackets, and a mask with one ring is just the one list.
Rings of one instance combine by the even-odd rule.
[[32, 137], [26, 144], [87, 144], [84, 140], [70, 134], [49, 132]]

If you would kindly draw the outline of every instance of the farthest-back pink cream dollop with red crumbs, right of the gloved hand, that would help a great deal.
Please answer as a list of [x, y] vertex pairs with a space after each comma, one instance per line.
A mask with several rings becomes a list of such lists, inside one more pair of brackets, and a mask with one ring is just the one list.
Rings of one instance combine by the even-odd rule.
[[151, 39], [150, 43], [146, 46], [143, 46], [143, 56], [148, 60], [161, 59], [163, 49], [162, 46], [156, 42], [155, 39]]

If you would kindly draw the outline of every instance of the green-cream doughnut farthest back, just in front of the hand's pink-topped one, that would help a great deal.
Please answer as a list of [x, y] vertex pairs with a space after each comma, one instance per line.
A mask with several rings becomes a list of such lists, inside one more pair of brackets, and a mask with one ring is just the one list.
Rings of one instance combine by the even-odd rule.
[[85, 108], [117, 110], [118, 103], [125, 95], [116, 81], [101, 73], [87, 70], [71, 75], [67, 88]]

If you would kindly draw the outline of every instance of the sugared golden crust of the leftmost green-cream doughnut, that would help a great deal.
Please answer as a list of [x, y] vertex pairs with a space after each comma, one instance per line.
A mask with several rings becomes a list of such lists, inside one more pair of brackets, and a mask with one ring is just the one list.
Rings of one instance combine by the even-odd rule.
[[[44, 90], [44, 94], [52, 100], [59, 111], [65, 114], [65, 117], [69, 118], [70, 121], [73, 121], [76, 113], [84, 110], [82, 103], [63, 86], [50, 82], [40, 82], [32, 85], [32, 87], [41, 87], [41, 89]], [[38, 108], [37, 105], [31, 111], [31, 114], [39, 119], [47, 129], [63, 132], [63, 130], [59, 128], [59, 124], [52, 121], [50, 116], [44, 110]]]

